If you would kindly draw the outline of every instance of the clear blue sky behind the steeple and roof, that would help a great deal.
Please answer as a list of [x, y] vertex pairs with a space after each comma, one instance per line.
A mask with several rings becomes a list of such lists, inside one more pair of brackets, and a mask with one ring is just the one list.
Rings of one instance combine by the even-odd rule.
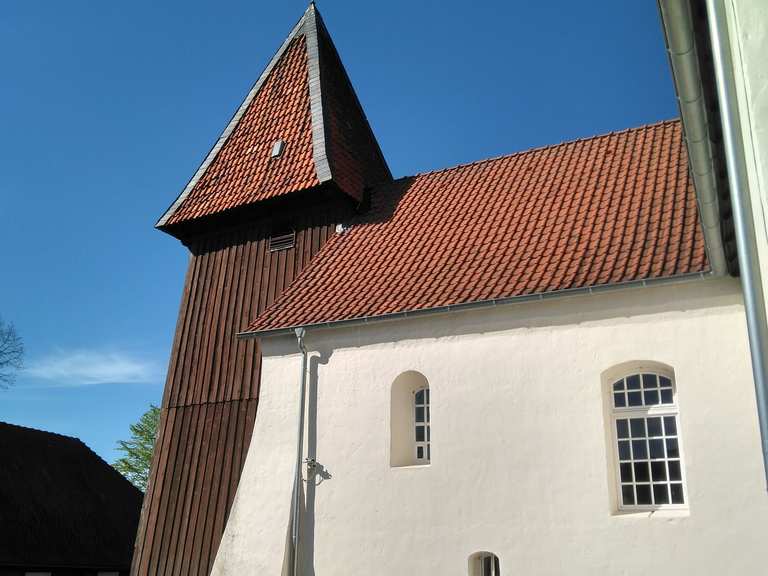
[[[396, 176], [678, 114], [655, 2], [318, 7]], [[188, 256], [154, 223], [305, 8], [2, 2], [0, 315], [27, 369], [0, 420], [113, 461], [160, 403]]]

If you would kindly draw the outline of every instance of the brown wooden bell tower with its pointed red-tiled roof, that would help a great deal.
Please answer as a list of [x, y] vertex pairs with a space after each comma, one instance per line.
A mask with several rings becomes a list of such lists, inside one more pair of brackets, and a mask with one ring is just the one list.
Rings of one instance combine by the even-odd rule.
[[157, 223], [191, 252], [131, 573], [208, 574], [258, 414], [242, 331], [391, 180], [314, 4]]

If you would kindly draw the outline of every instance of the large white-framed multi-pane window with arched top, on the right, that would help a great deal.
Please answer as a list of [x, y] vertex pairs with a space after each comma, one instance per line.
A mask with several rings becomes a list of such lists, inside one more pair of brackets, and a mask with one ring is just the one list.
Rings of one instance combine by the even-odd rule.
[[631, 374], [611, 386], [619, 507], [657, 509], [686, 503], [678, 410], [672, 379]]

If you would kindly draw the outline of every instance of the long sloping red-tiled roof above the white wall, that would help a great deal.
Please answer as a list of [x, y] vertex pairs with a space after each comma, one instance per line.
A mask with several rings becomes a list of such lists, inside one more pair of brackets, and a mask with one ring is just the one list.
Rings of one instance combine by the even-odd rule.
[[707, 270], [673, 120], [378, 187], [248, 331]]

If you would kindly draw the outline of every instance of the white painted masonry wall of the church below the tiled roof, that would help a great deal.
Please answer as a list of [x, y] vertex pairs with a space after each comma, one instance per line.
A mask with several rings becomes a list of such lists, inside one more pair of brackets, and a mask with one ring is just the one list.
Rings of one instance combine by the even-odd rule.
[[[768, 552], [739, 287], [707, 279], [309, 332], [302, 574], [762, 575]], [[674, 369], [689, 509], [618, 514], [603, 375]], [[261, 397], [213, 573], [287, 557], [300, 356], [264, 342]], [[391, 385], [429, 381], [432, 463], [390, 466]], [[329, 476], [329, 477], [328, 477]]]

